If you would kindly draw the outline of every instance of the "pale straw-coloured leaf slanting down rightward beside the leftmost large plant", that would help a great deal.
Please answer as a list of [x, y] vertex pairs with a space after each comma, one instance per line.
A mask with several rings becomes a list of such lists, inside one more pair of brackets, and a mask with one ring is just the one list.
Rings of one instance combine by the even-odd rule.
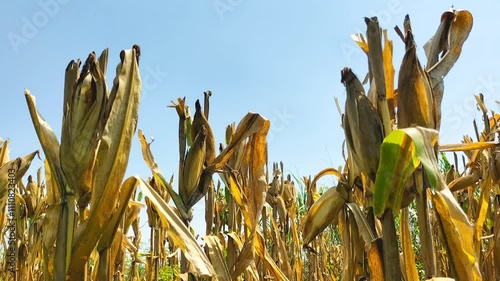
[[145, 181], [140, 181], [140, 187], [144, 196], [148, 197], [155, 206], [163, 225], [168, 226], [167, 234], [173, 244], [184, 253], [195, 272], [201, 277], [215, 276], [212, 264], [174, 209]]

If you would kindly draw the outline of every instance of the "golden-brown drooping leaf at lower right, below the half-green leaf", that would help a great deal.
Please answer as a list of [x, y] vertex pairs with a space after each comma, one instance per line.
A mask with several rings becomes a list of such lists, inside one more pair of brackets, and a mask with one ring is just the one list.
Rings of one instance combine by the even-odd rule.
[[[429, 191], [430, 192], [430, 191]], [[474, 249], [474, 228], [451, 191], [447, 188], [430, 195], [443, 231], [443, 243], [457, 281], [482, 280], [479, 257]]]

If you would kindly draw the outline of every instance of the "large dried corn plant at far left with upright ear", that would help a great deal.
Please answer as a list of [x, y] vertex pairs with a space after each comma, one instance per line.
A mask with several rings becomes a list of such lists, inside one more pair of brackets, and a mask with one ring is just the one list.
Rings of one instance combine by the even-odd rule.
[[91, 53], [81, 70], [80, 60], [68, 64], [60, 143], [25, 92], [46, 157], [46, 210], [39, 225], [46, 280], [121, 279], [115, 266], [129, 227], [123, 217], [139, 184], [137, 177], [122, 183], [138, 118], [139, 55], [138, 46], [121, 52], [111, 91], [107, 50], [99, 57]]

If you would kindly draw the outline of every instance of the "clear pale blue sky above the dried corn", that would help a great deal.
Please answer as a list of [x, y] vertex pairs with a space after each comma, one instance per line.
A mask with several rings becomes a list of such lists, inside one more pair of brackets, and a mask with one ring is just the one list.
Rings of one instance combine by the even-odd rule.
[[[367, 73], [366, 56], [350, 35], [365, 32], [365, 16], [378, 16], [394, 41], [399, 68], [404, 45], [394, 32], [410, 14], [420, 59], [442, 12], [468, 9], [474, 26], [462, 56], [445, 79], [441, 141], [460, 142], [480, 120], [473, 94], [500, 108], [497, 1], [7, 1], [0, 10], [0, 137], [11, 157], [40, 149], [23, 89], [60, 135], [64, 70], [72, 59], [110, 49], [108, 84], [122, 49], [139, 44], [143, 93], [138, 128], [154, 137], [153, 153], [166, 176], [177, 177], [177, 114], [171, 100], [194, 102], [212, 90], [210, 121], [217, 142], [225, 126], [248, 111], [271, 120], [269, 160], [288, 172], [314, 175], [344, 161], [340, 70]], [[35, 160], [33, 166], [42, 165]], [[137, 138], [128, 175], [148, 177]]]

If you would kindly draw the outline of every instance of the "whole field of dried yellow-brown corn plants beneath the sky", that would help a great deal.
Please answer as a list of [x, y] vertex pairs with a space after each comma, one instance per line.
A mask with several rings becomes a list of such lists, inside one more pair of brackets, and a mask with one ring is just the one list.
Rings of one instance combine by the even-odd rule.
[[[228, 121], [217, 142], [206, 91], [194, 114], [186, 98], [171, 104], [179, 159], [175, 180], [165, 177], [153, 132], [136, 128], [137, 45], [120, 53], [111, 89], [108, 50], [68, 64], [59, 138], [26, 90], [45, 159], [24, 178], [39, 152], [10, 160], [0, 140], [0, 280], [499, 280], [500, 114], [478, 95], [475, 136], [438, 136], [444, 78], [472, 15], [442, 14], [425, 63], [406, 16], [395, 28], [405, 48], [397, 76], [387, 30], [365, 22], [353, 38], [369, 73], [362, 81], [346, 67], [340, 77], [345, 165], [314, 176], [269, 163], [272, 124], [260, 114]], [[125, 178], [136, 132], [151, 174]], [[335, 185], [320, 186], [325, 176]], [[205, 233], [195, 233], [201, 201]]]

